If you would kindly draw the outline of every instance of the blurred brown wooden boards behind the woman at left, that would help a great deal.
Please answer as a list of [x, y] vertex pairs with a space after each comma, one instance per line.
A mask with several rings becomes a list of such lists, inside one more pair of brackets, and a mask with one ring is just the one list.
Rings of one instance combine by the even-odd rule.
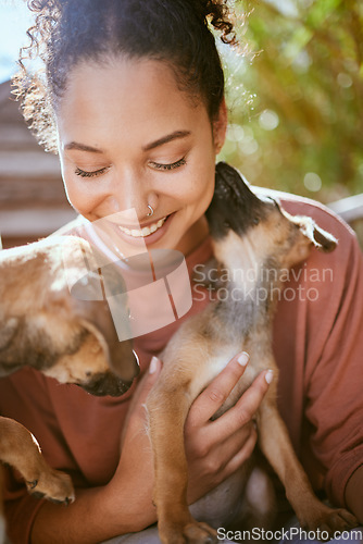
[[3, 247], [47, 236], [76, 217], [57, 156], [26, 127], [10, 82], [0, 85], [0, 235]]

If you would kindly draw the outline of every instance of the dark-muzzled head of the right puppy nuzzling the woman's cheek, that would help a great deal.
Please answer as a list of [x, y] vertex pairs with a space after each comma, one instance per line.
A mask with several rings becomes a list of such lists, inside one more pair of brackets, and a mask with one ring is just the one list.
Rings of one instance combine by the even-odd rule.
[[337, 245], [312, 218], [293, 217], [278, 200], [259, 197], [237, 170], [223, 162], [216, 165], [206, 219], [215, 256], [225, 263], [231, 255], [243, 252], [249, 254], [251, 265], [270, 261], [288, 268], [304, 260], [312, 247], [328, 252]]

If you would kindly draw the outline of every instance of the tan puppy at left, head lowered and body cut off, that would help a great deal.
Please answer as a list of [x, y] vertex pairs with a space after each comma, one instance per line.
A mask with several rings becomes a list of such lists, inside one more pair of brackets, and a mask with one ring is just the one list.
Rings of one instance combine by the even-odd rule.
[[[1, 251], [0, 378], [30, 366], [93, 395], [125, 393], [138, 363], [99, 296], [105, 283], [114, 293], [125, 288], [116, 267], [97, 269], [95, 250], [82, 238], [50, 237]], [[0, 418], [0, 461], [21, 472], [30, 493], [74, 500], [71, 478], [51, 469], [29, 431], [8, 418]], [[1, 487], [0, 481], [0, 542]]]

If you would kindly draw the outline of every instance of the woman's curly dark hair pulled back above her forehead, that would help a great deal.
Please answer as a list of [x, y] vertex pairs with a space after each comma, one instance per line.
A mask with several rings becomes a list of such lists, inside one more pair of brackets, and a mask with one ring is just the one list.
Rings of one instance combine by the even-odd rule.
[[[202, 97], [210, 119], [224, 96], [224, 74], [211, 27], [236, 45], [227, 0], [28, 0], [36, 13], [13, 78], [23, 114], [46, 150], [57, 152], [53, 111], [67, 75], [84, 60], [125, 54], [170, 63], [180, 88]], [[29, 73], [25, 59], [40, 58]]]

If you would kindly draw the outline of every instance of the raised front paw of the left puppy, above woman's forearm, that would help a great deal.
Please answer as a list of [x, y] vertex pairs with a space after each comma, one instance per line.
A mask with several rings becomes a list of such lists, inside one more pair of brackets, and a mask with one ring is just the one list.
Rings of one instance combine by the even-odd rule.
[[27, 482], [27, 489], [33, 496], [48, 498], [52, 503], [68, 505], [75, 499], [71, 477], [59, 470], [42, 471], [38, 480]]

